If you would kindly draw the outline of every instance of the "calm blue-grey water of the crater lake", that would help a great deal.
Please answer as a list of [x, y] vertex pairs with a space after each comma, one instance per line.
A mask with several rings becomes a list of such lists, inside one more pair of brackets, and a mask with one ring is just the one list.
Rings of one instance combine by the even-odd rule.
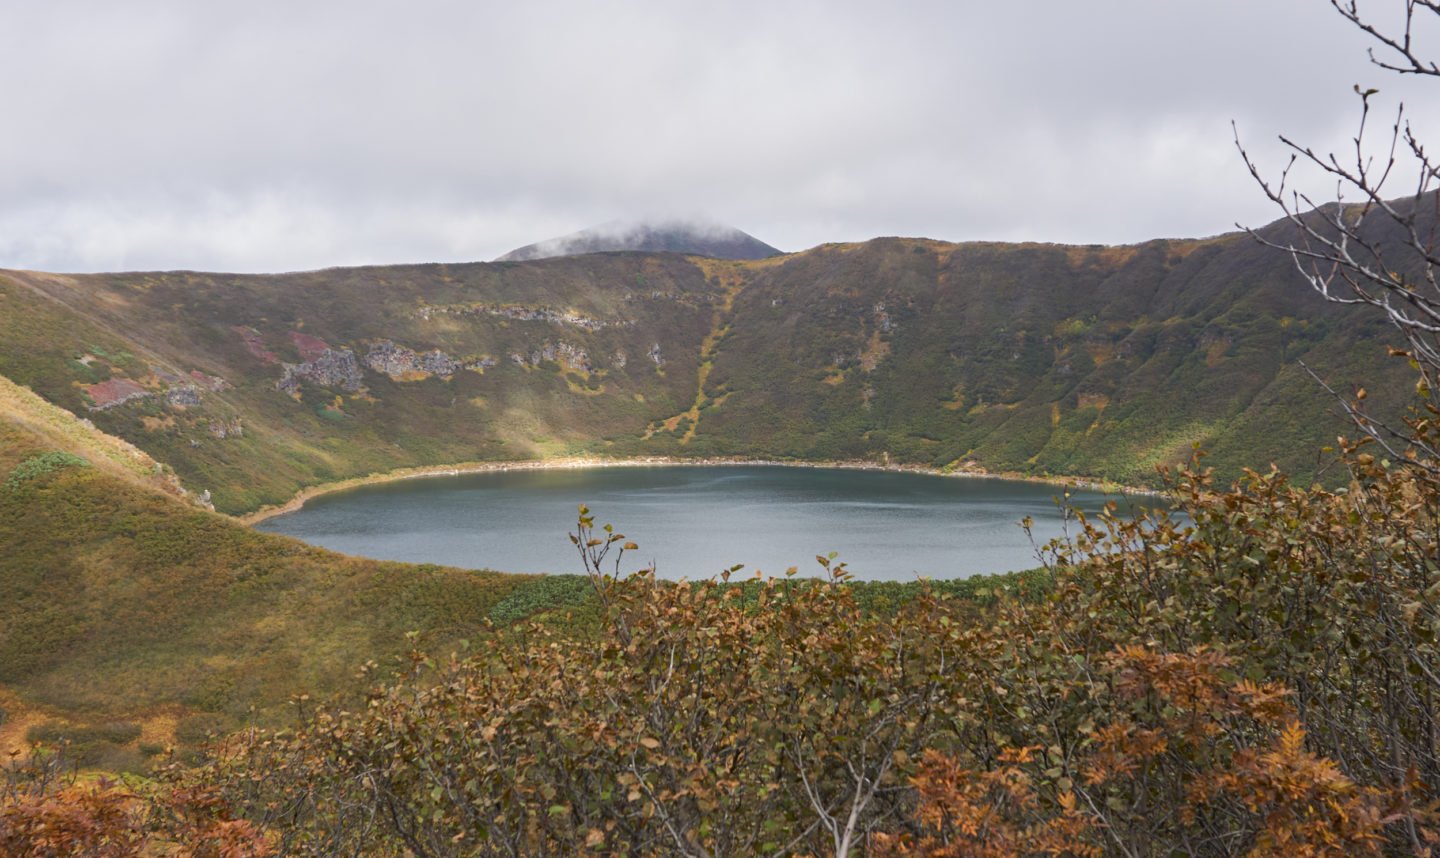
[[[639, 543], [624, 572], [708, 577], [737, 563], [821, 574], [838, 551], [857, 577], [968, 577], [1038, 566], [1020, 525], [1060, 536], [1053, 485], [838, 468], [645, 466], [508, 471], [406, 479], [305, 504], [256, 525], [383, 560], [504, 572], [579, 573], [566, 534], [576, 505]], [[1087, 512], [1106, 500], [1076, 491]], [[1129, 502], [1120, 498], [1122, 504]]]

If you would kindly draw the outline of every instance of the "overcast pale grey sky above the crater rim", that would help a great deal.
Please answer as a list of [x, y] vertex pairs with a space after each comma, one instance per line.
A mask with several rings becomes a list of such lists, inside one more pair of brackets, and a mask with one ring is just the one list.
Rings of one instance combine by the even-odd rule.
[[1231, 121], [1277, 168], [1346, 144], [1355, 83], [1440, 119], [1367, 46], [1325, 0], [0, 0], [0, 266], [1215, 235], [1274, 217]]

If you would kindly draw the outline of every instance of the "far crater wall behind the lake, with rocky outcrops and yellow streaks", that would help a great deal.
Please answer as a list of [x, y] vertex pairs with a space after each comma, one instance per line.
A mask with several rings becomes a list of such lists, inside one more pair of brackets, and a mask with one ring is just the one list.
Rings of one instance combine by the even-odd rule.
[[1345, 423], [1297, 361], [1391, 406], [1407, 389], [1388, 328], [1339, 310], [1244, 236], [7, 272], [0, 374], [228, 512], [396, 468], [580, 453], [1135, 484], [1201, 443], [1224, 475], [1305, 477]]

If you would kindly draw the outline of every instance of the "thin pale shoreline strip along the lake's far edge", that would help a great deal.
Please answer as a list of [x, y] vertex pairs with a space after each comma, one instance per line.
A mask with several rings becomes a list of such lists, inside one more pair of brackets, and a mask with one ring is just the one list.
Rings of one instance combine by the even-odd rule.
[[253, 512], [235, 515], [233, 518], [236, 518], [242, 524], [255, 525], [268, 518], [275, 518], [276, 515], [295, 512], [301, 510], [308, 501], [318, 498], [321, 495], [343, 492], [353, 488], [361, 488], [366, 485], [399, 482], [402, 479], [461, 477], [465, 474], [501, 474], [508, 471], [567, 471], [567, 469], [590, 469], [590, 468], [677, 468], [677, 466], [734, 468], [746, 465], [773, 466], [773, 468], [842, 469], [842, 471], [887, 471], [894, 474], [919, 474], [926, 477], [1038, 482], [1044, 485], [1071, 487], [1071, 488], [1081, 488], [1106, 494], [1128, 494], [1128, 495], [1148, 495], [1148, 497], [1158, 497], [1162, 494], [1152, 488], [1120, 485], [1117, 482], [1110, 482], [1107, 479], [1093, 479], [1084, 477], [1035, 477], [1031, 474], [986, 471], [978, 466], [945, 471], [940, 468], [930, 468], [926, 465], [887, 464], [887, 462], [874, 462], [865, 459], [796, 461], [796, 459], [762, 459], [762, 458], [746, 458], [746, 456], [714, 456], [714, 458], [628, 456], [622, 459], [609, 459], [605, 456], [564, 456], [556, 459], [518, 459], [507, 462], [459, 462], [455, 465], [423, 465], [416, 468], [399, 468], [396, 471], [387, 471], [383, 474], [370, 474], [367, 477], [351, 477], [350, 479], [323, 482], [320, 485], [304, 488], [300, 492], [297, 492], [295, 497], [285, 501], [284, 504], [271, 504], [266, 507], [261, 507]]

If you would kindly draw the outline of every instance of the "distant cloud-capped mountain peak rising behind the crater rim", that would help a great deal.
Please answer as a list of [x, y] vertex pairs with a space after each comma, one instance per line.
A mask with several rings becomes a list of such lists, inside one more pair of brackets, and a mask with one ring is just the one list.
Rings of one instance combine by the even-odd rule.
[[780, 250], [733, 226], [693, 220], [612, 222], [516, 248], [495, 262], [524, 262], [606, 250], [688, 253], [714, 259], [766, 259]]

